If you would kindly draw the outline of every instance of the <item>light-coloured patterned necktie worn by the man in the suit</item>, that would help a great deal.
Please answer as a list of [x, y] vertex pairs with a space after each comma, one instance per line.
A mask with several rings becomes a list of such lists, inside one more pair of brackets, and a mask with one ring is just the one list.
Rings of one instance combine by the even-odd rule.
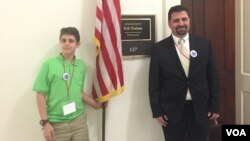
[[188, 76], [188, 69], [189, 69], [189, 53], [187, 48], [184, 46], [184, 42], [185, 40], [180, 38], [180, 40], [178, 41], [179, 44], [179, 49], [180, 49], [180, 61], [182, 64], [182, 67], [185, 71], [186, 76]]

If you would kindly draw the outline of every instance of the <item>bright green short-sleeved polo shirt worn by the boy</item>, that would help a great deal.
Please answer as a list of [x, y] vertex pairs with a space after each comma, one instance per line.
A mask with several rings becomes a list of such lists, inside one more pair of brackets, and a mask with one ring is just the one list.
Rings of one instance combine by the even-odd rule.
[[[70, 76], [68, 80], [63, 78], [65, 73]], [[72, 121], [84, 112], [82, 91], [85, 73], [86, 67], [83, 61], [76, 58], [70, 64], [64, 61], [62, 55], [59, 55], [43, 63], [36, 77], [33, 91], [46, 95], [46, 110], [50, 122]], [[63, 106], [73, 101], [76, 104], [76, 111], [64, 115]]]

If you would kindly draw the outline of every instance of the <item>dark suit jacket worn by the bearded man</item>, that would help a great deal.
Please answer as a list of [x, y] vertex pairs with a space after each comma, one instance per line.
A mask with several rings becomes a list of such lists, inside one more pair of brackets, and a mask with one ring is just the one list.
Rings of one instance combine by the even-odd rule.
[[169, 122], [177, 122], [184, 108], [189, 88], [196, 121], [207, 120], [208, 112], [219, 112], [219, 78], [210, 41], [189, 35], [189, 75], [186, 77], [172, 36], [152, 48], [149, 71], [149, 96], [153, 117], [167, 115]]

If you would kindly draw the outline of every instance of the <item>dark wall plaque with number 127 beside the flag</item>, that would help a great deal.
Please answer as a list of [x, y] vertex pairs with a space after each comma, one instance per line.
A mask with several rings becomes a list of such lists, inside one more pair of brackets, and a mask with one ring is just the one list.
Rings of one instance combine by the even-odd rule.
[[155, 43], [154, 15], [122, 15], [123, 56], [150, 55]]

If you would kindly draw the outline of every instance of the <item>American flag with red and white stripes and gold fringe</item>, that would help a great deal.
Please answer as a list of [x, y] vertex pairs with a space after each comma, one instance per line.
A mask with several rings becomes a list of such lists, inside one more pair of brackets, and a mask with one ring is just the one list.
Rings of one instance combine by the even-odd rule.
[[97, 0], [93, 97], [105, 102], [124, 91], [120, 0]]

